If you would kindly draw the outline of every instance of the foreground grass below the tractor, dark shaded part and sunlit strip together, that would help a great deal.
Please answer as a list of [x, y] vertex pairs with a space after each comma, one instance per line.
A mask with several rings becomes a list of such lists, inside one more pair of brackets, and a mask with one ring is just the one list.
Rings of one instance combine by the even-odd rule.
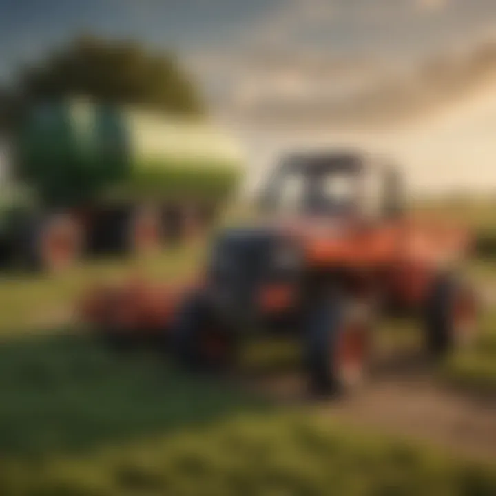
[[0, 391], [1, 495], [496, 491], [494, 466], [274, 411], [234, 384], [178, 373], [160, 355], [112, 353], [89, 336], [4, 340]]

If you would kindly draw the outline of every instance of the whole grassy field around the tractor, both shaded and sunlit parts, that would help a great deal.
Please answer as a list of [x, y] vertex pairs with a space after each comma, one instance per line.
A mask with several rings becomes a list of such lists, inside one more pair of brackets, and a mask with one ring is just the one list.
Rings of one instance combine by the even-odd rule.
[[[72, 325], [74, 301], [95, 280], [176, 280], [203, 254], [198, 242], [0, 280], [1, 495], [496, 494], [496, 467], [463, 453], [371, 433], [313, 406], [282, 407], [234, 379], [184, 375], [165, 351], [114, 353]], [[496, 289], [493, 258], [466, 270]], [[481, 327], [475, 347], [440, 364], [433, 382], [496, 397], [494, 305]], [[421, 345], [416, 327], [397, 322], [378, 340], [392, 350]], [[295, 368], [296, 355], [291, 344], [259, 343], [247, 362]]]

